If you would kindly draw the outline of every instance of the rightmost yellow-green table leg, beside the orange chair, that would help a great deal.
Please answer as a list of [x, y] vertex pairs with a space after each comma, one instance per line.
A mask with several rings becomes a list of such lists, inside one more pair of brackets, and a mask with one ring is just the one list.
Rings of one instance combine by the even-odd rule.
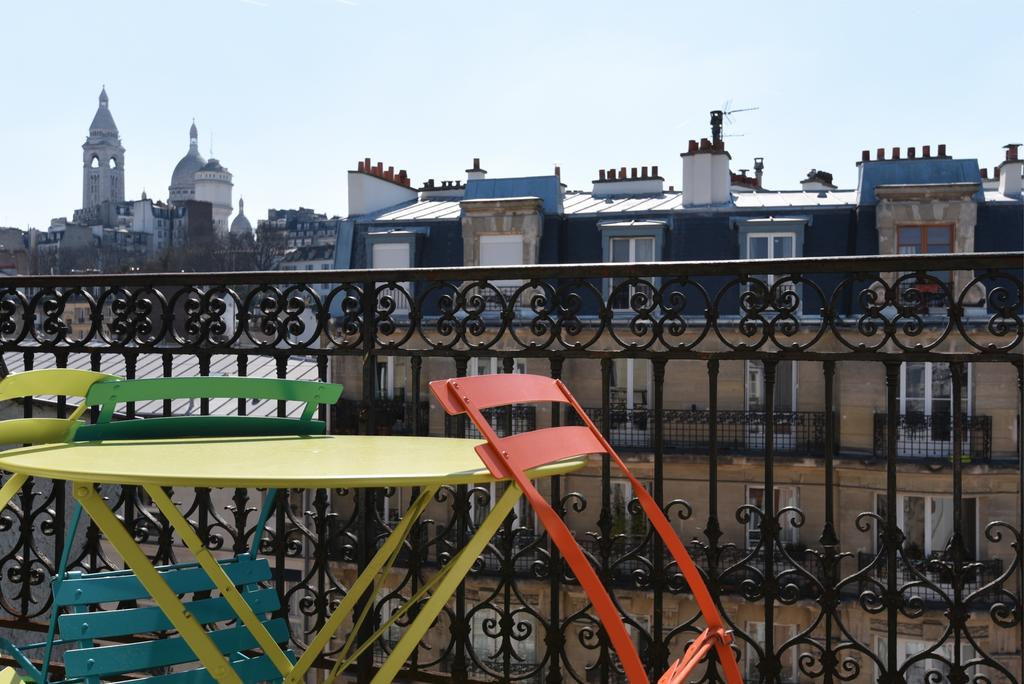
[[413, 649], [420, 643], [427, 634], [430, 626], [434, 624], [437, 613], [441, 611], [444, 604], [455, 593], [455, 590], [462, 583], [466, 573], [473, 567], [473, 563], [480, 557], [487, 543], [501, 527], [506, 516], [512, 511], [522, 490], [515, 482], [510, 482], [505, 494], [501, 496], [490, 513], [483, 519], [483, 522], [476, 529], [476, 533], [470, 538], [469, 542], [445, 566], [446, 574], [437, 585], [437, 589], [424, 604], [416, 619], [409, 626], [401, 639], [395, 644], [391, 654], [388, 655], [384, 665], [377, 671], [377, 676], [373, 678], [372, 684], [388, 684], [393, 681], [406, 664]]

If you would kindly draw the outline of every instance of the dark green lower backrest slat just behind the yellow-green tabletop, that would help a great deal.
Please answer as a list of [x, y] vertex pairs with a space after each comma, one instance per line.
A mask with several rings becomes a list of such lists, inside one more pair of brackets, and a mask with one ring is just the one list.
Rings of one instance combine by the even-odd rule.
[[79, 425], [74, 441], [103, 439], [173, 439], [176, 437], [254, 437], [324, 434], [323, 421], [262, 416], [168, 416], [143, 420]]

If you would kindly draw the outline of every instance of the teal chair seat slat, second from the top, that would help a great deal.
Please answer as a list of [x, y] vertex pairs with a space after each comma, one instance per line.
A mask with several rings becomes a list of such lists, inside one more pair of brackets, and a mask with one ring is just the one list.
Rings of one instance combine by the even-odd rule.
[[[281, 607], [278, 592], [273, 589], [258, 589], [242, 592], [241, 596], [252, 606], [253, 612], [270, 613]], [[188, 610], [201, 625], [234, 619], [237, 615], [227, 601], [222, 598], [206, 598], [185, 601]], [[165, 632], [173, 629], [171, 621], [158, 606], [123, 608], [121, 610], [97, 610], [95, 612], [71, 612], [60, 615], [60, 637], [65, 641], [81, 639], [110, 639], [131, 634]]]

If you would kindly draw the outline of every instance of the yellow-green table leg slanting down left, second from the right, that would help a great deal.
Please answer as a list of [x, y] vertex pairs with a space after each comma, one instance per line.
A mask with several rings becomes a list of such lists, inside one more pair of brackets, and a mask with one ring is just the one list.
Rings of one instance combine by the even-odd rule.
[[[413, 525], [423, 514], [423, 511], [427, 508], [427, 505], [434, 498], [437, 487], [430, 486], [425, 487], [423, 491], [420, 493], [419, 498], [413, 502], [413, 505], [409, 507], [406, 511], [406, 515], [401, 517], [398, 524], [395, 525], [394, 530], [388, 536], [381, 546], [380, 550], [374, 554], [373, 559], [370, 564], [367, 565], [366, 569], [355, 579], [352, 586], [348, 588], [348, 593], [335, 608], [331, 617], [328, 618], [321, 631], [316, 633], [309, 645], [306, 646], [305, 651], [299, 658], [299, 661], [295, 664], [292, 672], [285, 679], [286, 684], [294, 684], [295, 682], [303, 681], [303, 677], [306, 672], [312, 667], [316, 658], [319, 657], [324, 649], [327, 648], [331, 641], [331, 637], [338, 631], [341, 624], [348, 617], [352, 609], [355, 607], [355, 602], [366, 594], [367, 590], [373, 584], [374, 580], [381, 571], [386, 571], [390, 567], [391, 563], [394, 562], [394, 558], [397, 555], [398, 549], [401, 547], [401, 543], [406, 541], [409, 537], [409, 532], [412, 531]], [[373, 600], [371, 598], [371, 600]], [[352, 637], [354, 638], [354, 632]]]

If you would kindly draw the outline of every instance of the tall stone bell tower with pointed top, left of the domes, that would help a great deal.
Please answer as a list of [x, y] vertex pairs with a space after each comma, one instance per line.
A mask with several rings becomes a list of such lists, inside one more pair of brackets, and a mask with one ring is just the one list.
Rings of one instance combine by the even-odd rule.
[[82, 209], [88, 211], [103, 201], [124, 202], [125, 148], [111, 116], [105, 86], [99, 91], [99, 108], [82, 144]]

